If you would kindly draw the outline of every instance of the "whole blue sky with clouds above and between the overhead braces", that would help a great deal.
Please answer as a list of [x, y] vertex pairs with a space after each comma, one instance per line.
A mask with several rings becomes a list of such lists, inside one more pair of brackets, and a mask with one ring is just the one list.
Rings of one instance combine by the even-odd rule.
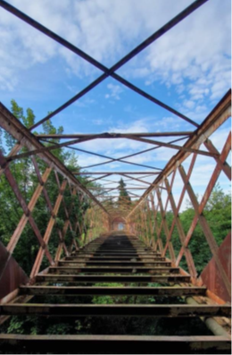
[[[108, 67], [192, 3], [188, 0], [8, 2]], [[232, 86], [231, 11], [230, 0], [210, 0], [118, 73], [201, 123]], [[61, 106], [102, 73], [2, 8], [0, 44], [1, 101], [10, 107], [14, 98], [25, 109], [31, 107], [37, 120]], [[62, 125], [65, 133], [192, 131], [194, 128], [112, 79], [104, 80], [55, 116], [53, 123], [57, 127]], [[229, 130], [231, 119], [213, 136], [219, 148]], [[79, 145], [79, 148], [119, 157], [150, 146], [120, 139], [94, 140]], [[161, 148], [131, 161], [162, 168], [174, 153], [171, 149]], [[79, 154], [79, 164], [83, 166], [104, 160]], [[196, 169], [201, 173], [208, 164], [213, 166], [214, 162], [206, 164], [199, 159]], [[103, 165], [92, 171], [111, 168], [139, 171], [136, 166], [119, 163]], [[210, 172], [208, 166], [207, 178]], [[118, 181], [119, 177], [114, 179]], [[223, 187], [228, 190], [227, 179], [223, 176], [221, 179]], [[203, 187], [199, 186], [198, 190], [203, 192]]]

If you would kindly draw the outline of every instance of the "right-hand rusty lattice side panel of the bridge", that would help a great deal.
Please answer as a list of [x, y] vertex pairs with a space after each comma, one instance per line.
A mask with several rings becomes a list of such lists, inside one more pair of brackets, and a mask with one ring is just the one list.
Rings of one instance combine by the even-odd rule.
[[[213, 121], [212, 124], [209, 116], [210, 123], [207, 120], [204, 123], [208, 131], [206, 129], [203, 131], [202, 128], [200, 130], [202, 135], [200, 134], [198, 141], [195, 142], [195, 148], [211, 153], [211, 156], [194, 152], [186, 153], [181, 159], [176, 158], [175, 164], [170, 169], [169, 163], [167, 174], [163, 173], [162, 178], [153, 182], [154, 188], [149, 193], [151, 203], [146, 204], [145, 209], [145, 200], [141, 199], [132, 214], [135, 214], [133, 221], [137, 224], [135, 227], [137, 234], [143, 233], [144, 241], [149, 245], [152, 244], [154, 249], [162, 251], [163, 256], [171, 259], [173, 266], [183, 266], [194, 283], [203, 282], [201, 273], [213, 258], [216, 267], [214, 271], [220, 274], [223, 285], [220, 287], [227, 290], [230, 294], [228, 297], [232, 297], [229, 266], [227, 266], [229, 252], [226, 252], [224, 258], [221, 257], [220, 252], [220, 247], [225, 243], [229, 245], [229, 231], [232, 229], [228, 217], [229, 208], [232, 212], [231, 192], [228, 190], [229, 182], [232, 180], [232, 166], [228, 163], [232, 151], [232, 132], [227, 124], [227, 134], [223, 144], [219, 138], [215, 139], [216, 133], [213, 136], [231, 114], [228, 106], [226, 107], [222, 108], [216, 118], [215, 111], [212, 112], [214, 120], [217, 119], [218, 122]], [[220, 132], [223, 132], [225, 138], [225, 127]], [[218, 142], [220, 148], [213, 143], [213, 140]], [[221, 191], [218, 182], [221, 182]], [[222, 208], [220, 211], [222, 221], [217, 214], [213, 216], [211, 213], [211, 204], [217, 204], [217, 189], [218, 194], [223, 194], [227, 199], [225, 208], [228, 215], [227, 219], [223, 220]], [[146, 223], [145, 214], [149, 216]], [[140, 218], [137, 219], [136, 216], [139, 215]], [[129, 218], [133, 218], [132, 215]], [[219, 226], [221, 232], [218, 232]], [[152, 241], [148, 241], [147, 236], [152, 236]]]

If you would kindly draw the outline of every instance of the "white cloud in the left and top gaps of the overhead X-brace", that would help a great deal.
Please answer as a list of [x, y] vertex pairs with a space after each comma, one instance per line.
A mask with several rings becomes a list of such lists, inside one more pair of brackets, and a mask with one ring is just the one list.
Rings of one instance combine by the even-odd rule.
[[[153, 0], [145, 0], [143, 3], [127, 0], [121, 6], [121, 2], [122, 0], [10, 1], [22, 12], [109, 66], [128, 52], [128, 46], [137, 45], [151, 31], [158, 29], [190, 3], [186, 0], [179, 0], [175, 5], [172, 0], [162, 3]], [[169, 12], [163, 11], [164, 8], [168, 8]], [[92, 75], [94, 68], [90, 64], [2, 8], [0, 23], [0, 56], [12, 70], [12, 77], [16, 76], [19, 69], [26, 70], [57, 56], [66, 63], [68, 73]], [[10, 79], [10, 75], [4, 70], [0, 75], [2, 82]], [[15, 85], [15, 82], [12, 81], [11, 85]]]

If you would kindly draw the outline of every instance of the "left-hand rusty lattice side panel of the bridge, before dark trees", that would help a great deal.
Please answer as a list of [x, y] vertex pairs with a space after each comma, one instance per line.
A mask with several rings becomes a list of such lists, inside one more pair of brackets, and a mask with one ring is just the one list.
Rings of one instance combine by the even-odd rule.
[[[107, 232], [108, 216], [101, 207], [95, 208], [94, 197], [91, 201], [89, 192], [55, 156], [49, 160], [46, 154], [40, 154], [11, 162], [11, 154], [29, 151], [31, 142], [24, 145], [26, 139], [22, 139], [16, 143], [14, 135], [7, 131], [5, 137], [12, 139], [12, 150], [7, 156], [0, 152], [1, 217], [5, 219], [1, 224], [5, 226], [1, 230], [1, 256], [8, 255], [3, 257], [0, 277], [9, 263], [14, 263], [15, 270], [17, 264], [11, 261], [15, 258], [33, 282], [41, 270]], [[7, 224], [8, 218], [12, 220]], [[17, 273], [12, 273], [1, 297], [22, 281]]]

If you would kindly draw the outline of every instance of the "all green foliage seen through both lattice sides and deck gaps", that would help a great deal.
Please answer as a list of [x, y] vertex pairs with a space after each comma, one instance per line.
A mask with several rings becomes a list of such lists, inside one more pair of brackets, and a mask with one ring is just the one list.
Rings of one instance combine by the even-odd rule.
[[[24, 114], [23, 109], [17, 105], [17, 103], [12, 100], [12, 113], [23, 123], [26, 127], [31, 127], [35, 123], [35, 115], [31, 109], [28, 109], [26, 114]], [[48, 120], [43, 124], [42, 133], [62, 133], [63, 128], [59, 127], [55, 129], [53, 124]], [[15, 145], [15, 139], [6, 132], [0, 131], [0, 148], [7, 154]], [[54, 145], [59, 143], [59, 139], [49, 139], [45, 142], [46, 146]], [[25, 152], [26, 148], [22, 148], [21, 152]], [[65, 149], [57, 148], [53, 150], [55, 156], [59, 157], [61, 161], [68, 166], [70, 171], [79, 171], [78, 158], [75, 154], [67, 152]], [[37, 165], [39, 170], [44, 172], [46, 165], [37, 158]], [[37, 175], [34, 172], [34, 167], [31, 164], [30, 158], [19, 159], [13, 161], [11, 164], [11, 171], [13, 176], [20, 187], [21, 194], [26, 202], [34, 193], [37, 187]], [[87, 184], [85, 178], [79, 178], [80, 182]], [[62, 179], [60, 181], [62, 183]], [[126, 190], [126, 183], [120, 179], [120, 197], [119, 206], [125, 204], [132, 204]], [[54, 206], [55, 199], [58, 194], [57, 182], [52, 173], [46, 182], [46, 189], [49, 194], [49, 199]], [[96, 189], [96, 193], [99, 193], [101, 189]], [[70, 210], [70, 221], [74, 221], [78, 217], [79, 223], [81, 223], [82, 216], [85, 215], [89, 203], [87, 199], [84, 199], [81, 203], [79, 199], [75, 196], [70, 196], [68, 190], [64, 192], [64, 202], [66, 206], [72, 205]], [[108, 207], [112, 207], [112, 200], [109, 200]], [[106, 207], [107, 207], [106, 206]], [[149, 207], [145, 207], [145, 212], [148, 212]], [[12, 189], [10, 188], [8, 182], [6, 181], [4, 174], [0, 178], [0, 240], [6, 245], [11, 238], [12, 232], [14, 231], [16, 225], [18, 224], [21, 216], [22, 209], [16, 200]], [[190, 225], [195, 216], [195, 210], [188, 204], [186, 210], [179, 213], [180, 222], [183, 226], [185, 234], [188, 232]], [[204, 210], [204, 216], [210, 224], [211, 231], [215, 237], [215, 240], [220, 245], [224, 240], [228, 231], [232, 230], [232, 194], [231, 192], [225, 193], [217, 184], [215, 189], [211, 193], [211, 198], [209, 199], [207, 206]], [[49, 220], [49, 213], [46, 207], [43, 197], [37, 200], [37, 205], [33, 211], [33, 217], [36, 220], [37, 226], [43, 235], [46, 232], [46, 224]], [[141, 216], [140, 216], [141, 218]], [[147, 231], [149, 231], [149, 222], [156, 224], [158, 229], [162, 223], [162, 216], [158, 212], [154, 220], [153, 214], [150, 214], [151, 221], [147, 220]], [[166, 223], [168, 228], [173, 222], [173, 214], [168, 211], [166, 214]], [[51, 235], [49, 241], [49, 250], [54, 256], [55, 249], [58, 245], [57, 228], [62, 230], [66, 220], [65, 207], [61, 206], [59, 214], [56, 218], [56, 224], [54, 232]], [[153, 235], [149, 235], [149, 238], [157, 238], [156, 232]], [[69, 245], [73, 238], [77, 237], [73, 232], [68, 232], [66, 236], [67, 244]], [[166, 235], [162, 228], [162, 243], [166, 243]], [[79, 236], [79, 240], [85, 241], [85, 235]], [[173, 229], [171, 237], [172, 245], [178, 257], [178, 252], [181, 248], [181, 242], [178, 237], [177, 227]], [[21, 239], [18, 242], [17, 248], [14, 250], [13, 256], [20, 262], [23, 269], [29, 274], [31, 266], [37, 256], [38, 250], [37, 239], [32, 232], [29, 224], [27, 224], [24, 232], [21, 234]], [[196, 225], [195, 231], [193, 232], [192, 239], [189, 243], [189, 249], [191, 250], [194, 259], [197, 272], [200, 274], [203, 267], [211, 258], [211, 251], [209, 249], [208, 243], [205, 239], [203, 230], [200, 224]], [[42, 267], [46, 267], [46, 259], [43, 262]], [[180, 266], [187, 269], [185, 258], [182, 259]], [[100, 283], [96, 284], [99, 286], [114, 286], [121, 287], [120, 283]], [[128, 286], [135, 286], [134, 284], [128, 284]], [[149, 284], [149, 286], [159, 286], [157, 284]], [[49, 302], [49, 299], [38, 300], [39, 302]], [[62, 301], [61, 298], [51, 299], [52, 302]], [[112, 304], [112, 303], [163, 303], [165, 304], [168, 300], [165, 297], [135, 297], [135, 296], [91, 296], [72, 298], [71, 300], [63, 299], [64, 302], [69, 303], [95, 303], [95, 304]], [[183, 300], [176, 298], [173, 303], [182, 303]], [[40, 317], [11, 317], [11, 319], [4, 325], [5, 331], [13, 334], [209, 334], [209, 332], [204, 327], [203, 323], [197, 319], [164, 319], [152, 317], [86, 317], [86, 318], [62, 318], [62, 321], [57, 318], [44, 318]]]

